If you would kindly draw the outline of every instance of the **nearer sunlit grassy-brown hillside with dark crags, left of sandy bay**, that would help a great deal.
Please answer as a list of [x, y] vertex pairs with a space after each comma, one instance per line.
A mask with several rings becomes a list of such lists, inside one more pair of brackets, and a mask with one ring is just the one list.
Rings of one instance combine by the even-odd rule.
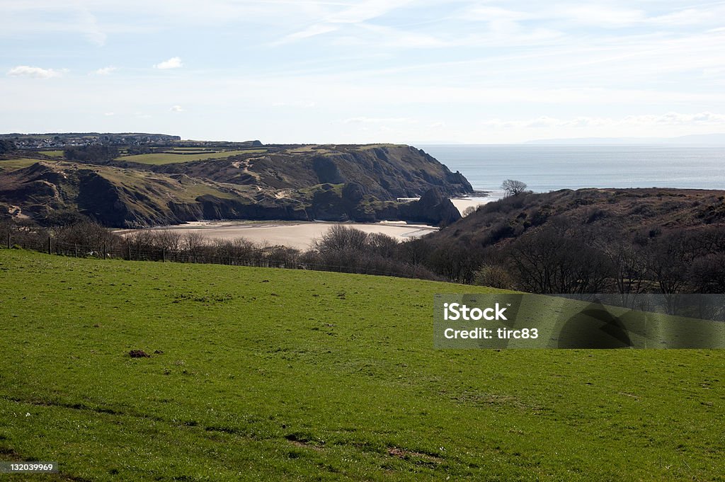
[[115, 167], [38, 162], [0, 173], [0, 204], [41, 224], [73, 215], [119, 228], [178, 224], [204, 218], [204, 196], [254, 205], [246, 193], [209, 181]]

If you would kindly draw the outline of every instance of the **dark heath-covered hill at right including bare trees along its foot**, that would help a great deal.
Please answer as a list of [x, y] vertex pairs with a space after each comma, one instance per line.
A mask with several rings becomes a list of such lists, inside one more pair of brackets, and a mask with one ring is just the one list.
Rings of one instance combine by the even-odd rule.
[[428, 236], [447, 253], [431, 269], [535, 293], [722, 293], [724, 200], [671, 188], [510, 196]]

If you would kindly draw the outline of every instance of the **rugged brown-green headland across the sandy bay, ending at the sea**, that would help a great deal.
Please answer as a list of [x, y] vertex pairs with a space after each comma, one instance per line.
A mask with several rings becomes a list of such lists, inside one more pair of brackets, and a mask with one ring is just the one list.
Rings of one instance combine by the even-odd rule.
[[120, 228], [202, 219], [444, 225], [460, 217], [447, 197], [471, 191], [463, 175], [408, 146], [278, 147], [163, 166], [47, 160], [1, 171], [0, 216], [85, 216]]

